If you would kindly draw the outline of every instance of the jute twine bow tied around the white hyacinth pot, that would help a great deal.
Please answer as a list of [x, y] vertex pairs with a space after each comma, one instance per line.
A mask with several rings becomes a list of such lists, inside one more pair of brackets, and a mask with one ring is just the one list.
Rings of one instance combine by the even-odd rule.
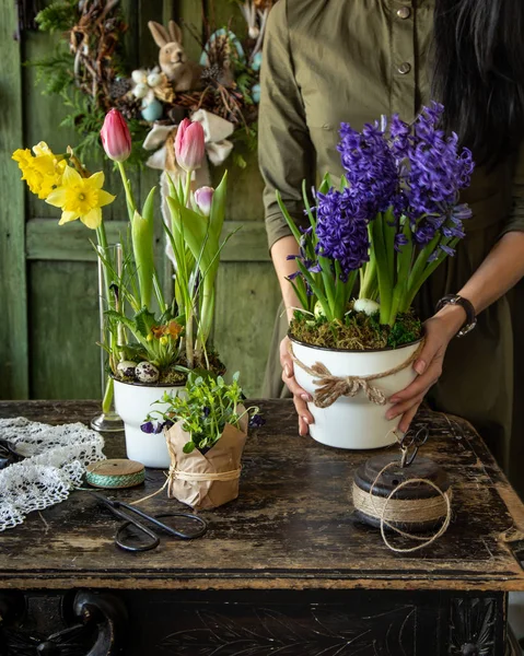
[[317, 388], [313, 395], [313, 403], [317, 408], [329, 408], [329, 406], [333, 406], [333, 403], [335, 403], [335, 401], [341, 396], [354, 397], [360, 389], [362, 389], [372, 403], [385, 406], [387, 402], [386, 395], [382, 391], [382, 389], [379, 389], [379, 387], [372, 385], [371, 383], [374, 380], [380, 380], [381, 378], [386, 378], [387, 376], [393, 376], [393, 374], [397, 374], [398, 372], [407, 368], [420, 355], [423, 344], [424, 340], [420, 342], [419, 348], [415, 351], [415, 353], [412, 353], [398, 366], [387, 370], [386, 372], [382, 372], [381, 374], [371, 374], [369, 376], [334, 376], [327, 366], [322, 364], [322, 362], [315, 362], [315, 364], [312, 366], [307, 366], [301, 362], [293, 353], [293, 344], [291, 341], [289, 342], [288, 349], [293, 362], [306, 374], [310, 374], [310, 376], [314, 378], [313, 384], [317, 385]]

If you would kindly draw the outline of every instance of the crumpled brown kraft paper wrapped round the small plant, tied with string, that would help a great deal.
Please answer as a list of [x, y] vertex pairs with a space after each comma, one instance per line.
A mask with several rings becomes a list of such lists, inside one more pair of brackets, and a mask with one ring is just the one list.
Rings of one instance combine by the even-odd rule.
[[[242, 412], [244, 408], [238, 407], [238, 413]], [[199, 511], [216, 508], [238, 496], [242, 454], [247, 438], [247, 414], [240, 423], [240, 431], [226, 424], [220, 440], [205, 455], [198, 449], [190, 454], [184, 453], [184, 445], [190, 441], [190, 435], [183, 430], [182, 421], [166, 431], [171, 454], [167, 487], [170, 499], [177, 499]], [[213, 480], [214, 475], [225, 480]], [[186, 480], [186, 476], [190, 480]]]

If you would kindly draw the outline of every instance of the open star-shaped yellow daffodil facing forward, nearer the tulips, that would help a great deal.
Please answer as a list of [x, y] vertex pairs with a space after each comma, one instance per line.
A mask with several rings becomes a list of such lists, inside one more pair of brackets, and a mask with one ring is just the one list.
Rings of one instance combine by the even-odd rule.
[[102, 172], [83, 178], [78, 171], [67, 166], [61, 186], [51, 191], [46, 200], [62, 210], [59, 225], [80, 219], [88, 227], [97, 229], [102, 223], [101, 208], [115, 200], [115, 196], [102, 189], [103, 184]]

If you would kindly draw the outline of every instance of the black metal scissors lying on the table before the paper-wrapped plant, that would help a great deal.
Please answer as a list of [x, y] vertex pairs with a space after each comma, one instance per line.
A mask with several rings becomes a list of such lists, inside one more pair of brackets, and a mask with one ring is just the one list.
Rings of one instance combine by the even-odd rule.
[[[158, 515], [156, 517], [152, 517], [151, 515], [148, 515], [147, 513], [140, 511], [136, 506], [129, 505], [121, 501], [113, 501], [103, 496], [102, 494], [98, 494], [97, 492], [93, 492], [92, 490], [88, 490], [85, 488], [80, 489], [84, 492], [89, 492], [90, 494], [92, 494], [103, 506], [105, 506], [110, 513], [113, 513], [113, 515], [116, 515], [118, 518], [124, 519], [124, 524], [121, 524], [116, 531], [115, 543], [117, 547], [124, 549], [125, 551], [132, 551], [135, 553], [142, 551], [151, 551], [151, 549], [155, 549], [160, 544], [160, 537], [154, 532], [154, 530], [144, 526], [144, 524], [135, 518], [132, 514], [138, 515], [139, 517], [141, 517], [149, 524], [152, 524], [154, 527], [160, 528], [167, 535], [173, 536], [174, 538], [181, 538], [182, 540], [194, 540], [195, 538], [200, 538], [208, 530], [207, 522], [201, 517], [198, 517], [197, 515], [191, 515], [189, 513], [166, 513], [164, 515]], [[163, 517], [178, 517], [185, 520], [186, 524], [187, 522], [194, 524], [195, 528], [194, 530], [177, 530], [176, 528], [173, 528], [172, 526], [160, 522], [160, 519]], [[131, 531], [131, 527], [135, 530]], [[142, 539], [145, 536], [147, 538], [149, 538], [149, 540], [140, 544], [132, 543], [132, 538], [135, 538], [136, 541], [139, 535]]]

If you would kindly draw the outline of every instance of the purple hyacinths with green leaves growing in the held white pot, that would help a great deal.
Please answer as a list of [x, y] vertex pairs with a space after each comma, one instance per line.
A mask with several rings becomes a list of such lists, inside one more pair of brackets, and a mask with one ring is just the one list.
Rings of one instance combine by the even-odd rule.
[[[304, 203], [311, 232], [304, 237], [281, 210], [301, 244], [292, 284], [305, 309], [315, 303], [328, 320], [343, 319], [360, 277], [360, 298], [380, 301], [380, 321], [393, 326], [423, 282], [453, 256], [471, 215], [459, 192], [469, 185], [471, 153], [455, 133], [439, 128], [444, 108], [424, 107], [412, 125], [393, 116], [389, 125], [340, 128], [345, 175], [339, 188], [326, 176]], [[313, 297], [307, 297], [311, 291]]]

